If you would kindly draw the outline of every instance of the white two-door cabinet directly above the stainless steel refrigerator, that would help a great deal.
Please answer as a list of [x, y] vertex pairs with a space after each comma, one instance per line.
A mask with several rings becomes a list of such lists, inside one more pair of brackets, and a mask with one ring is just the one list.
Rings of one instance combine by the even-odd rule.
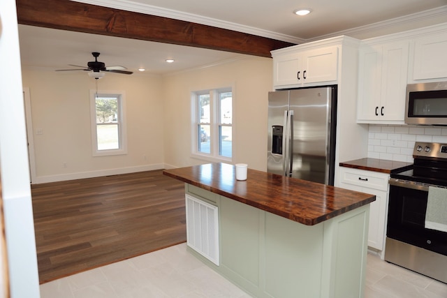
[[303, 87], [316, 82], [337, 80], [338, 47], [304, 52], [274, 54], [274, 87]]

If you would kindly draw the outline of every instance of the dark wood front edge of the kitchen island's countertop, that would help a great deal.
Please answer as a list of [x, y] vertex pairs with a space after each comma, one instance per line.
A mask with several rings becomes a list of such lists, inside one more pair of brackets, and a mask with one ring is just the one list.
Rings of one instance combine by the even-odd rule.
[[230, 199], [235, 200], [237, 202], [241, 202], [243, 204], [247, 204], [247, 205], [249, 205], [251, 207], [255, 207], [255, 208], [261, 209], [263, 211], [268, 211], [268, 212], [270, 212], [272, 214], [276, 214], [277, 216], [288, 218], [291, 221], [296, 221], [298, 223], [302, 223], [303, 225], [316, 225], [318, 223], [322, 223], [323, 221], [327, 221], [330, 218], [333, 218], [335, 216], [339, 216], [340, 214], [344, 214], [344, 213], [346, 213], [348, 211], [351, 211], [353, 209], [362, 207], [362, 206], [364, 206], [366, 204], [369, 204], [371, 202], [374, 202], [376, 200], [376, 196], [375, 195], [371, 195], [371, 197], [368, 198], [367, 200], [362, 200], [361, 202], [357, 202], [355, 204], [351, 204], [351, 205], [346, 206], [346, 207], [344, 207], [342, 209], [337, 209], [337, 210], [332, 211], [332, 212], [330, 212], [328, 214], [325, 214], [323, 216], [319, 216], [317, 218], [302, 218], [300, 216], [295, 216], [294, 214], [290, 214], [288, 212], [284, 212], [284, 211], [280, 211], [278, 209], [271, 208], [271, 207], [266, 206], [264, 204], [258, 204], [258, 203], [254, 202], [254, 201], [246, 200], [244, 198], [240, 198], [237, 195], [233, 195], [233, 193], [227, 193], [226, 191], [221, 191], [219, 188], [214, 188], [212, 186], [207, 186], [207, 185], [202, 184], [202, 183], [200, 183], [198, 181], [193, 181], [191, 179], [186, 179], [184, 177], [177, 176], [176, 174], [172, 174], [170, 172], [163, 171], [163, 174], [168, 176], [168, 177], [177, 179], [179, 181], [183, 181], [184, 183], [191, 184], [191, 185], [197, 186], [199, 188], [203, 188], [206, 191], [210, 191], [212, 193], [217, 193], [218, 195], [223, 195], [226, 198], [230, 198]]

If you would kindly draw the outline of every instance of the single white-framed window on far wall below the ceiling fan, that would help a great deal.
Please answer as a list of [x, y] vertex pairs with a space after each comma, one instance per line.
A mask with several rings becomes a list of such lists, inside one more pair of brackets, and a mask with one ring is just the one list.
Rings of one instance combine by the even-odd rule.
[[91, 91], [90, 97], [93, 155], [126, 154], [123, 93]]

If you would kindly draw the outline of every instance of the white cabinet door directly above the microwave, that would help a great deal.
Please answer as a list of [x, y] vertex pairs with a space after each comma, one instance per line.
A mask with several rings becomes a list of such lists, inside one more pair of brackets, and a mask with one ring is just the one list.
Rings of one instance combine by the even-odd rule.
[[413, 80], [447, 77], [447, 35], [420, 38], [414, 43]]

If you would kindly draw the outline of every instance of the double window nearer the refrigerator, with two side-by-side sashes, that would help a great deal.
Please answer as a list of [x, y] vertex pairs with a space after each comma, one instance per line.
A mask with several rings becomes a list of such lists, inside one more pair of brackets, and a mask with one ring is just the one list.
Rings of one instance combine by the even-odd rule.
[[233, 92], [193, 92], [193, 154], [231, 161], [233, 156]]

